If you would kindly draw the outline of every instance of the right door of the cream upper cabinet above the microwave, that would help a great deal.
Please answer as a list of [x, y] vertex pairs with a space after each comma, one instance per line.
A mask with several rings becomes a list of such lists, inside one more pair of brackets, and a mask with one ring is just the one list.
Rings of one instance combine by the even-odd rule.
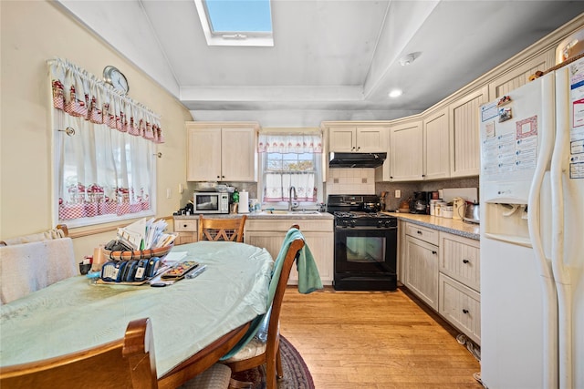
[[221, 179], [225, 181], [256, 181], [256, 145], [255, 128], [223, 128]]

